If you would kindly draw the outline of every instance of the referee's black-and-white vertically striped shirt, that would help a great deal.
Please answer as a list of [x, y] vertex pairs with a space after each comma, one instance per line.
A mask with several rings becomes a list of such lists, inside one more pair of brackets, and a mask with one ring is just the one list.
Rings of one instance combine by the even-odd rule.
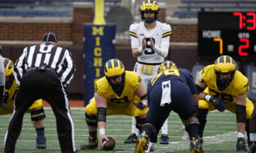
[[64, 86], [70, 83], [76, 71], [74, 60], [67, 49], [54, 47], [51, 43], [44, 43], [24, 48], [13, 68], [13, 75], [17, 84], [20, 84], [20, 79], [22, 79], [27, 69], [39, 68], [42, 64], [54, 69]]

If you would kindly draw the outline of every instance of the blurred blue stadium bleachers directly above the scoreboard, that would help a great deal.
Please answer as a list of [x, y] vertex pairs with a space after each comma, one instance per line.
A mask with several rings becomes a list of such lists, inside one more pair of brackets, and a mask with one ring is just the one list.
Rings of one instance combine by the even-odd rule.
[[256, 1], [202, 1], [202, 0], [181, 0], [181, 6], [175, 11], [172, 17], [196, 18], [198, 11], [253, 11], [256, 9]]

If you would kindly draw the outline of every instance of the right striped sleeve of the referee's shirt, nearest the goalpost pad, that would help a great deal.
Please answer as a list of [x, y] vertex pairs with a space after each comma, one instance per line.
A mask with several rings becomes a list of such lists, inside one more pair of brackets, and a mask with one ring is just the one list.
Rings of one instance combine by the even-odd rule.
[[76, 71], [76, 66], [74, 63], [74, 59], [72, 58], [71, 53], [68, 50], [65, 50], [65, 59], [64, 62], [67, 68], [63, 71], [60, 80], [64, 86], [68, 85], [74, 76], [74, 72]]

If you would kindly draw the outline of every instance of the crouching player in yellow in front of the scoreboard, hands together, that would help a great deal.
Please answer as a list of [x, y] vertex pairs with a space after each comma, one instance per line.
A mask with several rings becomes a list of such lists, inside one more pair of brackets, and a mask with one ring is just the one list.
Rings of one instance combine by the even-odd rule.
[[200, 143], [203, 143], [203, 133], [207, 113], [212, 110], [236, 113], [237, 120], [237, 151], [246, 151], [244, 129], [250, 145], [249, 121], [253, 112], [253, 103], [246, 98], [249, 89], [248, 79], [236, 70], [236, 62], [228, 55], [221, 55], [214, 64], [205, 66], [196, 81], [199, 94], [199, 109], [197, 117], [200, 122]]

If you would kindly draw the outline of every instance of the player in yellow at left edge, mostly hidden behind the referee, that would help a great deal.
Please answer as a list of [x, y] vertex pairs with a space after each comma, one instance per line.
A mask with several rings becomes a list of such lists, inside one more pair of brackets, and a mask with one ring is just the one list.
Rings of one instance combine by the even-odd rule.
[[[13, 113], [13, 103], [15, 95], [18, 91], [18, 85], [13, 76], [13, 62], [8, 58], [4, 58], [4, 71], [6, 76], [5, 89], [4, 89], [4, 103], [0, 106], [0, 115]], [[44, 135], [44, 108], [42, 99], [36, 100], [33, 105], [29, 107], [28, 112], [31, 113], [31, 120], [36, 129], [36, 148], [45, 149], [46, 139]]]

